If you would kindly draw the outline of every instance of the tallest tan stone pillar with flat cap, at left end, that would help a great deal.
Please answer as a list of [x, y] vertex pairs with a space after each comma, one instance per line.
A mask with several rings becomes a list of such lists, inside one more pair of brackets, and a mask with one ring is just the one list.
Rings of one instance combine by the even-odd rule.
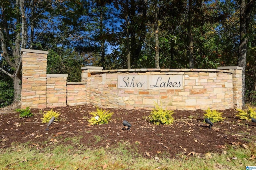
[[21, 49], [21, 108], [46, 108], [46, 67], [48, 51]]

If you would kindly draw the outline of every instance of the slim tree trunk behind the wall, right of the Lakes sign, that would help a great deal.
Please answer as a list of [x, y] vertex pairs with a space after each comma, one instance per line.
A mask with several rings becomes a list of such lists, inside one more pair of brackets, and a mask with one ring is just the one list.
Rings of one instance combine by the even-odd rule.
[[189, 68], [194, 68], [193, 57], [193, 35], [192, 35], [192, 0], [188, 2], [188, 47], [189, 47]]

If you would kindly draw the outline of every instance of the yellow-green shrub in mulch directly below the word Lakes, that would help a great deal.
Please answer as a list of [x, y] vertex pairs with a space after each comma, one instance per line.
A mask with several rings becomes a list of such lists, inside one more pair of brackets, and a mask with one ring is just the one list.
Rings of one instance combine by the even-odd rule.
[[150, 115], [146, 117], [154, 125], [171, 125], [174, 121], [172, 114], [174, 111], [164, 110], [162, 107], [156, 104], [156, 108], [150, 112]]

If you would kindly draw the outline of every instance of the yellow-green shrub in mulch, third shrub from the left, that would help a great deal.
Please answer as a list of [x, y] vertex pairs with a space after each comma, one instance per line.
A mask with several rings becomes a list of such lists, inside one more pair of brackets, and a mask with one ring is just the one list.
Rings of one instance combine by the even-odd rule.
[[[97, 108], [97, 111], [89, 113], [93, 117], [88, 120], [89, 125], [98, 125], [98, 124], [108, 124], [108, 121], [110, 121], [113, 112], [109, 111], [103, 111], [102, 109]], [[95, 118], [98, 116], [98, 120]]]

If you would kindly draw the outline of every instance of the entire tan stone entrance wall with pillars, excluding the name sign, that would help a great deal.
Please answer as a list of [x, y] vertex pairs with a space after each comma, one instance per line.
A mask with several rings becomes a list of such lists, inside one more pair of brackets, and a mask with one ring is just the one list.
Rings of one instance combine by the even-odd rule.
[[[22, 108], [92, 104], [103, 108], [230, 109], [242, 108], [242, 68], [117, 69], [82, 67], [82, 82], [47, 74], [47, 51], [22, 49]], [[183, 89], [118, 88], [118, 75], [182, 75]]]

